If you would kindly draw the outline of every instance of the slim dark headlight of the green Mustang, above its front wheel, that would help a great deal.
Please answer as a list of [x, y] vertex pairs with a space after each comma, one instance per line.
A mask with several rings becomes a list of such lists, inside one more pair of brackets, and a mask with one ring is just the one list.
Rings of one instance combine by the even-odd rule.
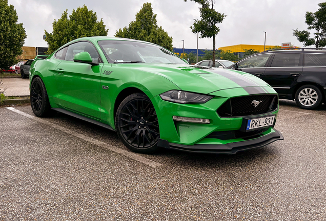
[[195, 94], [184, 91], [168, 91], [159, 95], [162, 100], [171, 101], [175, 103], [206, 103], [211, 100], [213, 96]]

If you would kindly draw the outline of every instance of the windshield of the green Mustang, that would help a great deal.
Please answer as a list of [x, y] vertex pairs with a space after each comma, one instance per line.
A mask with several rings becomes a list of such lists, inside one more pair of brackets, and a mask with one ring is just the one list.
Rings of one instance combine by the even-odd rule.
[[149, 43], [121, 40], [98, 41], [109, 63], [186, 64], [172, 52]]

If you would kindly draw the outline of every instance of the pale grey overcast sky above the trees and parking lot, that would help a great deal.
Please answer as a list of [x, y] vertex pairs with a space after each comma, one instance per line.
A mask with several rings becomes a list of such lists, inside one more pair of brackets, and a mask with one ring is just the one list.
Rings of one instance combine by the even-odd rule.
[[[136, 13], [144, 3], [152, 3], [157, 14], [157, 25], [173, 37], [173, 47], [195, 49], [197, 34], [190, 26], [199, 19], [199, 5], [183, 0], [9, 0], [18, 14], [18, 22], [24, 24], [27, 33], [24, 46], [47, 47], [42, 36], [44, 30], [52, 32], [54, 19], [61, 17], [64, 10], [77, 9], [84, 4], [96, 12], [98, 20], [103, 18], [108, 36], [114, 36], [116, 30], [128, 26], [135, 20]], [[263, 45], [264, 32], [267, 32], [266, 45], [281, 45], [291, 42], [301, 46], [292, 34], [292, 30], [307, 29], [304, 23], [306, 11], [318, 9], [316, 0], [216, 0], [215, 8], [227, 17], [219, 24], [220, 32], [216, 37], [216, 48], [248, 44]], [[199, 38], [199, 49], [212, 49], [213, 40]]]

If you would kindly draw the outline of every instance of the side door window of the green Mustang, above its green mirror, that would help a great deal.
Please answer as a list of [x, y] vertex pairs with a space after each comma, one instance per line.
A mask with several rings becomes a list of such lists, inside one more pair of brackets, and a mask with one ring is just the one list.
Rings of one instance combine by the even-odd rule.
[[91, 55], [93, 62], [100, 61], [96, 49], [90, 42], [87, 41], [80, 41], [70, 45], [68, 47], [65, 60], [73, 61], [74, 56], [80, 52], [88, 52]]

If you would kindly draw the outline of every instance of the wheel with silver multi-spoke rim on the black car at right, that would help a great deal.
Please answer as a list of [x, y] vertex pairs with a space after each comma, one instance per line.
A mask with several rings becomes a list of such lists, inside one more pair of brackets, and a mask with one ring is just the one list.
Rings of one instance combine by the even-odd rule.
[[315, 109], [322, 104], [322, 94], [315, 85], [303, 85], [295, 93], [295, 102], [302, 109]]

